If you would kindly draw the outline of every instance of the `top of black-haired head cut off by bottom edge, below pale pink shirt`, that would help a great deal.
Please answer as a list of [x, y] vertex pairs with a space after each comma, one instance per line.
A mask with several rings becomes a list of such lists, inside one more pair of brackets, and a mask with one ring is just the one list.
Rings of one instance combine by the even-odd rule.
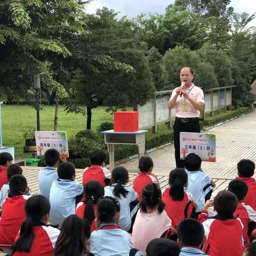
[[146, 248], [147, 256], [179, 256], [181, 247], [174, 241], [166, 238], [151, 240]]

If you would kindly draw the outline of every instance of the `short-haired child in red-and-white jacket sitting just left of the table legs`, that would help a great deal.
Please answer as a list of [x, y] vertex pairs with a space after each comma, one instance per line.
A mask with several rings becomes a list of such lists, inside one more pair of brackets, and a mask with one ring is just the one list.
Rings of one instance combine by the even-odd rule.
[[83, 174], [83, 186], [85, 183], [97, 180], [103, 187], [111, 185], [111, 172], [105, 167], [106, 154], [102, 150], [94, 150], [91, 155], [91, 166], [86, 167]]

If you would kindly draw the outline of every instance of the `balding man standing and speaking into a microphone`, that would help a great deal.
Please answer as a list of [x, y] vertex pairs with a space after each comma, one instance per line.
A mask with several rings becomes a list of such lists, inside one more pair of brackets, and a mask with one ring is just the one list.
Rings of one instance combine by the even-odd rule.
[[182, 85], [173, 90], [168, 108], [176, 108], [173, 125], [176, 167], [184, 167], [180, 159], [180, 132], [200, 132], [199, 116], [204, 109], [204, 93], [193, 83], [193, 70], [185, 67], [180, 70]]

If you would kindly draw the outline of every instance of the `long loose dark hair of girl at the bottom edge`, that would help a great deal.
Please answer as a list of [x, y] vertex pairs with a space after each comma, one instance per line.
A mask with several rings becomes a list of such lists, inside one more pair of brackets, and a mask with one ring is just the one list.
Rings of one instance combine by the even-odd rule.
[[57, 256], [82, 256], [87, 253], [87, 241], [90, 237], [90, 223], [77, 215], [69, 215], [62, 224], [60, 235], [55, 244]]

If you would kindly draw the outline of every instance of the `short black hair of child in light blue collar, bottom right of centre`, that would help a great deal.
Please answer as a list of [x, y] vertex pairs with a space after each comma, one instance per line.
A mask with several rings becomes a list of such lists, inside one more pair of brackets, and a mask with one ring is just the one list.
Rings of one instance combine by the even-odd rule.
[[186, 246], [199, 246], [203, 243], [204, 227], [195, 219], [182, 220], [177, 227], [177, 235]]

